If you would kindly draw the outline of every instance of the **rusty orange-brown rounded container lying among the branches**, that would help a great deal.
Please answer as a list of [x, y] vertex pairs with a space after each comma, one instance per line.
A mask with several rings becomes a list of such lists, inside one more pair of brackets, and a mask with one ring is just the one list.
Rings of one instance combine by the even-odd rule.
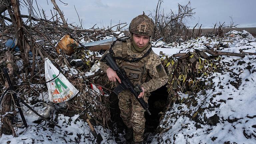
[[56, 51], [60, 54], [60, 49], [62, 49], [66, 55], [71, 55], [74, 52], [75, 47], [78, 47], [78, 43], [69, 35], [65, 35], [58, 42]]

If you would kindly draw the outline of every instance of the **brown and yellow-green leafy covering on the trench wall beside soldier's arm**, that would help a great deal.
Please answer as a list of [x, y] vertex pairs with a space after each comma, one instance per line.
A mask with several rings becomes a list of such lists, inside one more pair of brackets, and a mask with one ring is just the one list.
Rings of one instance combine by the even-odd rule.
[[[196, 57], [196, 58], [195, 58]], [[195, 94], [207, 87], [206, 77], [215, 71], [218, 71], [222, 65], [219, 63], [219, 57], [209, 57], [204, 59], [200, 57], [199, 52], [188, 52], [186, 56], [181, 58], [162, 56], [163, 64], [169, 75], [168, 81], [168, 101], [167, 109], [173, 103], [183, 102], [179, 96], [179, 92], [185, 94]], [[194, 104], [189, 101], [189, 105]]]

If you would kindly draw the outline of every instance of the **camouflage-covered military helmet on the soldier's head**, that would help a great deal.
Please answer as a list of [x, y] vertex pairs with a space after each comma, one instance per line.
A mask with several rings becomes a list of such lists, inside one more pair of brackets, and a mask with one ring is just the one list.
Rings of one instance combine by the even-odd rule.
[[153, 36], [155, 34], [155, 24], [153, 20], [143, 12], [142, 15], [138, 15], [132, 19], [129, 25], [129, 31], [130, 33]]

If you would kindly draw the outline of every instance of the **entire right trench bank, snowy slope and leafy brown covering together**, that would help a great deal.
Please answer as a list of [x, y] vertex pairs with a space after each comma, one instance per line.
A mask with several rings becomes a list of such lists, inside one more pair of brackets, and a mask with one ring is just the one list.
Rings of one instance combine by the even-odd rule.
[[255, 41], [246, 31], [231, 31], [225, 38], [200, 37], [178, 47], [253, 54], [245, 57], [204, 59], [197, 50], [178, 59], [163, 55], [169, 105], [152, 143], [254, 143], [255, 112], [248, 107], [255, 105]]

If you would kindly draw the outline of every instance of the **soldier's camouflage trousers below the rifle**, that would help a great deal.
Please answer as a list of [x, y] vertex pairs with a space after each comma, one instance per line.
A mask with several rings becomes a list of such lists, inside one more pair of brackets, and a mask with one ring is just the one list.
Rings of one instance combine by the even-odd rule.
[[[118, 95], [118, 99], [118, 105], [121, 110], [121, 118], [128, 128], [133, 128], [133, 140], [135, 142], [142, 141], [146, 121], [144, 118], [145, 110], [141, 107], [140, 103], [129, 90], [122, 91]], [[146, 94], [144, 94], [143, 99], [145, 102], [148, 102]]]

